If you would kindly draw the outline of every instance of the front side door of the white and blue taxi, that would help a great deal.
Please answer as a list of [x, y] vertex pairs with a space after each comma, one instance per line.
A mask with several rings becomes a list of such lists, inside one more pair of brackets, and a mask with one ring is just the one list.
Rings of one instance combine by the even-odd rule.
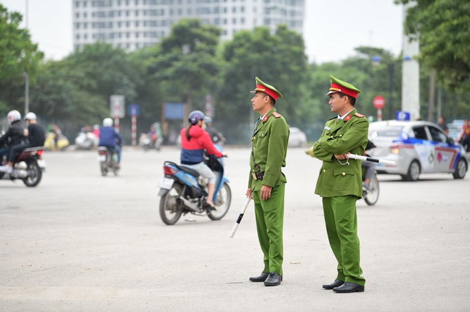
[[435, 172], [449, 172], [452, 171], [452, 162], [457, 154], [456, 148], [447, 143], [447, 135], [439, 128], [428, 125], [429, 133], [431, 135], [432, 143], [436, 150], [436, 159], [434, 162]]

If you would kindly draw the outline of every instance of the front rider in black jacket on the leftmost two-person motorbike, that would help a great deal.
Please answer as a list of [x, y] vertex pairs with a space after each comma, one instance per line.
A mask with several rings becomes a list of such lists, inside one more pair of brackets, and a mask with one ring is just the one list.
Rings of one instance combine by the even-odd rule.
[[[10, 110], [8, 112], [8, 123], [10, 127], [6, 131], [6, 133], [0, 137], [0, 147], [7, 146], [4, 148], [0, 148], [0, 162], [3, 159], [4, 155], [8, 155], [7, 159], [10, 158], [11, 148], [13, 146], [17, 146], [24, 143], [24, 131], [21, 125], [21, 113], [17, 110]], [[12, 169], [11, 166], [8, 164], [4, 166], [0, 166], [0, 171], [11, 173]]]

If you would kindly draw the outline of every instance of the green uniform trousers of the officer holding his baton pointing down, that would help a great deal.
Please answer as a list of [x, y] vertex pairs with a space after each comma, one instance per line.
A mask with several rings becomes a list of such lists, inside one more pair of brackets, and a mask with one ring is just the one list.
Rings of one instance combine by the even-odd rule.
[[262, 201], [259, 191], [253, 192], [256, 229], [259, 246], [264, 254], [263, 272], [276, 272], [282, 276], [282, 227], [284, 224], [285, 183], [271, 189], [271, 198]]

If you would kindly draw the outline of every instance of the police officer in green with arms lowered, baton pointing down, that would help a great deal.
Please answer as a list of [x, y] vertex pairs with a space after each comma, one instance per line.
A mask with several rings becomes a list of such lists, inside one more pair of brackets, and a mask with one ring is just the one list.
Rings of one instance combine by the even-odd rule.
[[264, 268], [261, 275], [250, 277], [252, 282], [277, 286], [282, 281], [282, 226], [284, 221], [285, 166], [289, 127], [274, 104], [282, 97], [275, 87], [256, 77], [256, 89], [251, 91], [253, 110], [260, 114], [252, 137], [250, 174], [247, 197], [255, 202], [256, 229]]

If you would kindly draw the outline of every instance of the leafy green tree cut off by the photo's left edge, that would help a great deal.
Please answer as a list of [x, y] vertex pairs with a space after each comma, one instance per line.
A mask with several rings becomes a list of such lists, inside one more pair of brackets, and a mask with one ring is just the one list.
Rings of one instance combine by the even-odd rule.
[[0, 112], [19, 109], [24, 101], [24, 73], [30, 80], [44, 54], [31, 42], [27, 29], [19, 28], [23, 17], [8, 12], [0, 3]]

